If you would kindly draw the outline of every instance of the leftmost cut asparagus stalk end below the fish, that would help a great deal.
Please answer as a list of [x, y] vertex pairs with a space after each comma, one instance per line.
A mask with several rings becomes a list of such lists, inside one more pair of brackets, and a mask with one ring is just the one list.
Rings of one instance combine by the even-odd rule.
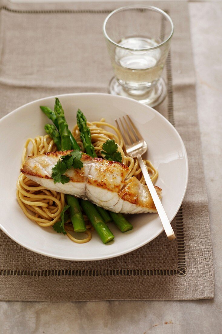
[[86, 231], [86, 224], [82, 215], [78, 198], [66, 195], [67, 203], [70, 205], [69, 213], [75, 232], [81, 233]]

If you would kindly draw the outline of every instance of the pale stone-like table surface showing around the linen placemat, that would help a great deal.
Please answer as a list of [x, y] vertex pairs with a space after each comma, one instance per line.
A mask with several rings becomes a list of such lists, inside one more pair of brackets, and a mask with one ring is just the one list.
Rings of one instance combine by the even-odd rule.
[[213, 243], [215, 298], [198, 301], [0, 302], [2, 333], [210, 334], [221, 331], [222, 132], [219, 125], [222, 124], [222, 65], [219, 51], [222, 51], [222, 2], [190, 1], [189, 11]]

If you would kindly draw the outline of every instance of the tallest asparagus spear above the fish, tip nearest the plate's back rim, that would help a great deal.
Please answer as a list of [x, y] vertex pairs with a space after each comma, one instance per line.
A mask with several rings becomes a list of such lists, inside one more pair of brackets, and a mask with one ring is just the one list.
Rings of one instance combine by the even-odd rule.
[[59, 133], [61, 136], [61, 146], [62, 150], [67, 151], [71, 150], [71, 142], [69, 137], [69, 129], [68, 124], [66, 123], [65, 116], [64, 116], [64, 110], [62, 109], [61, 103], [59, 102], [59, 99], [56, 98], [55, 101], [55, 115], [58, 121], [59, 125]]

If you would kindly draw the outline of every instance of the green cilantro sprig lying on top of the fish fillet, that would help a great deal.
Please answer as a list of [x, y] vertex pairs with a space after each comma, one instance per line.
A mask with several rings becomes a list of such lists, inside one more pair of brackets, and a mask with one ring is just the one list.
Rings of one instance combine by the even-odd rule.
[[54, 183], [61, 182], [62, 184], [65, 184], [69, 182], [69, 177], [63, 174], [71, 167], [79, 169], [83, 167], [83, 163], [80, 160], [82, 154], [81, 151], [73, 150], [70, 154], [63, 155], [59, 158], [57, 164], [52, 168], [52, 178]]

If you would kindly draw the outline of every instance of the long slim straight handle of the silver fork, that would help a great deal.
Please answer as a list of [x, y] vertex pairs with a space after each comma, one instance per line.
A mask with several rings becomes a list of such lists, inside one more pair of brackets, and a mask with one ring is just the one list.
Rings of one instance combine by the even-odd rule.
[[158, 195], [156, 193], [156, 190], [154, 188], [154, 185], [153, 185], [153, 183], [151, 181], [151, 178], [149, 176], [149, 173], [148, 173], [148, 171], [146, 169], [146, 166], [145, 166], [145, 164], [143, 162], [143, 159], [142, 159], [141, 155], [139, 155], [137, 157], [137, 159], [138, 159], [141, 171], [143, 173], [144, 179], [146, 181], [147, 187], [148, 187], [148, 189], [150, 191], [150, 194], [152, 196], [153, 202], [154, 202], [154, 204], [156, 206], [156, 209], [157, 209], [157, 212], [159, 214], [160, 220], [162, 222], [163, 228], [164, 228], [164, 230], [166, 232], [166, 235], [167, 235], [167, 237], [168, 237], [169, 240], [173, 240], [173, 239], [176, 238], [176, 236], [174, 234], [172, 226], [170, 225], [169, 219], [167, 218], [167, 215], [166, 215], [166, 212], [165, 212], [165, 210], [163, 208], [163, 205], [162, 205], [162, 203], [161, 203], [161, 201], [160, 201], [160, 199], [159, 199], [159, 197], [158, 197]]

